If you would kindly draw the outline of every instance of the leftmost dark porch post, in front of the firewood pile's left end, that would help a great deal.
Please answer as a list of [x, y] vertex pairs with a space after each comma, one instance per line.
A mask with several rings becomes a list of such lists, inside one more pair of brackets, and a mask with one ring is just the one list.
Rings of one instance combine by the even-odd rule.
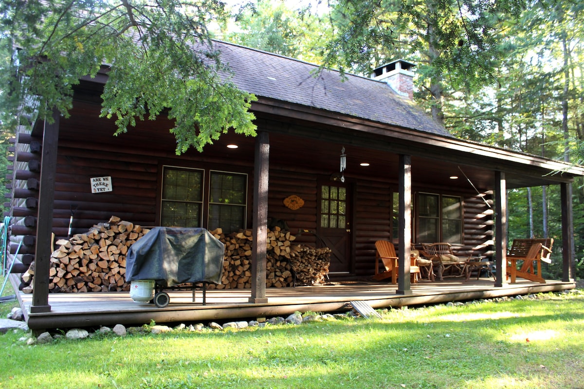
[[44, 121], [41, 153], [39, 211], [37, 213], [36, 249], [34, 253], [33, 299], [30, 313], [50, 312], [48, 304], [48, 271], [51, 264], [51, 232], [57, 172], [57, 146], [61, 114], [53, 110], [53, 124]]

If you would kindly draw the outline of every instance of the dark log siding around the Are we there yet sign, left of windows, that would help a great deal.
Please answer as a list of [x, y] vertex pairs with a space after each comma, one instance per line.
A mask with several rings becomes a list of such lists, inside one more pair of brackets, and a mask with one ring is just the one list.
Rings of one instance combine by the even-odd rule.
[[[91, 177], [112, 177], [112, 192], [92, 193]], [[71, 209], [72, 233], [84, 233], [97, 223], [119, 216], [142, 226], [154, 226], [158, 160], [134, 155], [60, 147], [55, 177], [53, 227], [57, 236], [67, 236]]]

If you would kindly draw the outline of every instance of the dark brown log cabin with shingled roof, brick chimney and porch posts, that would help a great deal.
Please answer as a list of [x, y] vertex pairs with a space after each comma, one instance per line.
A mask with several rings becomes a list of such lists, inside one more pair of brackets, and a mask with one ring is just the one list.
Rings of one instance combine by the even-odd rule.
[[144, 227], [251, 230], [252, 303], [266, 300], [274, 226], [329, 248], [331, 279], [372, 276], [375, 242], [391, 240], [397, 293], [409, 293], [411, 244], [447, 241], [460, 255], [495, 258], [501, 286], [506, 190], [536, 185], [561, 185], [563, 278], [573, 278], [571, 183], [582, 167], [454, 138], [413, 103], [413, 65], [401, 59], [371, 78], [342, 79], [269, 52], [214, 46], [232, 82], [258, 97], [255, 137], [228, 133], [177, 156], [164, 118], [113, 136], [113, 121], [99, 117], [107, 66], [81, 80], [70, 117], [17, 130], [6, 216], [13, 271], [36, 265], [31, 312], [50, 311], [51, 234], [85, 233], [112, 215]]

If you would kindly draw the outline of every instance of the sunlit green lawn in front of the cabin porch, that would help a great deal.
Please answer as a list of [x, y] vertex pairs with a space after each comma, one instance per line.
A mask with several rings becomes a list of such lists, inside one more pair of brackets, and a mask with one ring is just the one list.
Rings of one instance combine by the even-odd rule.
[[47, 345], [9, 332], [0, 388], [584, 388], [583, 307], [582, 292], [550, 293], [376, 320]]

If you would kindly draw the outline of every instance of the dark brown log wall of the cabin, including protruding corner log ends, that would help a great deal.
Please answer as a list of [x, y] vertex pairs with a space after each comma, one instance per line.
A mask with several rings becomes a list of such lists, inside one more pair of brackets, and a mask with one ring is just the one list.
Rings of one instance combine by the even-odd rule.
[[[172, 147], [168, 147], [169, 142], [172, 145], [172, 135], [159, 135], [166, 131], [164, 128], [147, 132], [148, 135], [134, 130], [131, 135], [118, 139], [113, 138], [111, 126], [99, 129], [103, 123], [99, 121], [99, 125], [92, 125], [95, 139], [86, 139], [79, 122], [63, 120], [61, 123], [53, 214], [53, 232], [57, 239], [68, 236], [71, 213], [74, 216], [71, 234], [84, 233], [112, 215], [146, 228], [156, 226], [163, 164], [246, 173], [250, 187], [253, 183], [253, 155], [247, 160], [238, 160], [235, 165], [225, 156], [200, 153], [176, 156]], [[152, 134], [159, 139], [149, 138]], [[25, 243], [19, 252], [25, 265], [34, 260], [41, 141], [29, 133], [17, 134], [9, 174], [12, 194], [8, 202], [13, 217], [10, 248], [15, 254], [18, 243]], [[157, 142], [165, 142], [165, 147], [157, 148]], [[290, 232], [296, 235], [296, 243], [318, 248], [319, 241], [314, 235], [318, 225], [318, 182], [328, 177], [325, 171], [317, 169], [317, 166], [307, 171], [298, 170], [293, 164], [270, 165], [268, 216], [274, 222], [286, 222]], [[113, 192], [92, 194], [90, 178], [103, 176], [112, 177]], [[375, 241], [391, 240], [391, 193], [397, 191], [397, 181], [347, 176], [347, 183], [354, 185], [352, 193], [355, 196], [351, 258], [354, 273], [350, 276], [369, 277], [373, 274]], [[431, 191], [460, 195], [451, 190], [451, 187], [444, 187]], [[283, 204], [283, 199], [293, 194], [304, 200], [302, 208], [288, 209]], [[486, 194], [489, 201], [490, 196]], [[478, 195], [466, 194], [463, 199], [464, 244], [455, 250], [460, 255], [491, 255], [492, 210]], [[252, 191], [248, 190], [248, 228], [251, 227], [252, 204]]]

